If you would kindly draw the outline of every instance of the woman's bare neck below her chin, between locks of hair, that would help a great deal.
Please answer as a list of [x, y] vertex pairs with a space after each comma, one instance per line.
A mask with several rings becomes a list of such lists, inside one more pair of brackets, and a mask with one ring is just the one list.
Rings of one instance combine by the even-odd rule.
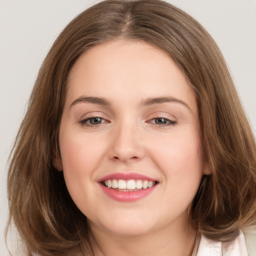
[[90, 225], [90, 243], [94, 256], [190, 256], [196, 231], [190, 225], [163, 227], [138, 235], [120, 235]]

